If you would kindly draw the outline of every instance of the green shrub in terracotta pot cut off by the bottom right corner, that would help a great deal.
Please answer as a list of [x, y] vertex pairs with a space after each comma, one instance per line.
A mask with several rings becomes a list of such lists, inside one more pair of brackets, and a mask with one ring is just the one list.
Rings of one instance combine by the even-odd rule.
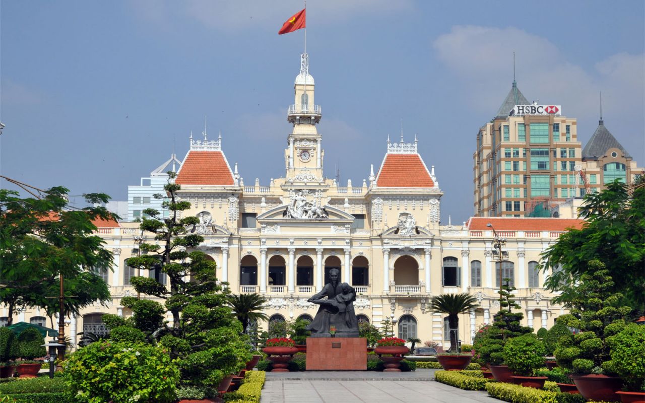
[[623, 403], [645, 401], [645, 326], [625, 326], [607, 338], [613, 368], [620, 375], [626, 391], [618, 391]]

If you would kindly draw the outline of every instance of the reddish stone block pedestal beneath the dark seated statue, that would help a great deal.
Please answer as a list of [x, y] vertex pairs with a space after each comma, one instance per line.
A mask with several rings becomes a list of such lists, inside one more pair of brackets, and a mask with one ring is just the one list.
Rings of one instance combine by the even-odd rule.
[[366, 371], [364, 337], [308, 337], [307, 371]]

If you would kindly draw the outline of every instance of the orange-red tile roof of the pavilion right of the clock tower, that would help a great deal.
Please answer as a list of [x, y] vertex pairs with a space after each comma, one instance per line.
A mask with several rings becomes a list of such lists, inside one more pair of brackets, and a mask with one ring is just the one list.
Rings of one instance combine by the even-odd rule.
[[419, 154], [388, 153], [376, 177], [376, 185], [386, 188], [433, 188], [435, 183]]

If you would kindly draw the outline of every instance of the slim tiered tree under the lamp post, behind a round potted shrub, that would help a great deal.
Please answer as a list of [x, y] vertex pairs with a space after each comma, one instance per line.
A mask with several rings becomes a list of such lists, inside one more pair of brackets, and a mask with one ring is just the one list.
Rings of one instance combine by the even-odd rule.
[[506, 341], [533, 333], [533, 328], [521, 325], [524, 315], [513, 312], [513, 309], [521, 307], [513, 299], [515, 287], [510, 286], [509, 282], [509, 279], [504, 279], [502, 290], [498, 291], [501, 295], [500, 310], [493, 316], [492, 326], [482, 328], [481, 335], [475, 335], [476, 359], [480, 364], [501, 365], [504, 362]]

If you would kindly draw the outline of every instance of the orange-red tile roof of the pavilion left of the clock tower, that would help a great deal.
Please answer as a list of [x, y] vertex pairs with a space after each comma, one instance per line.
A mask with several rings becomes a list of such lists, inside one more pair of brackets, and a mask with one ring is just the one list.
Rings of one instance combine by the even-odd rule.
[[221, 151], [190, 151], [179, 168], [175, 183], [232, 186], [233, 172]]

